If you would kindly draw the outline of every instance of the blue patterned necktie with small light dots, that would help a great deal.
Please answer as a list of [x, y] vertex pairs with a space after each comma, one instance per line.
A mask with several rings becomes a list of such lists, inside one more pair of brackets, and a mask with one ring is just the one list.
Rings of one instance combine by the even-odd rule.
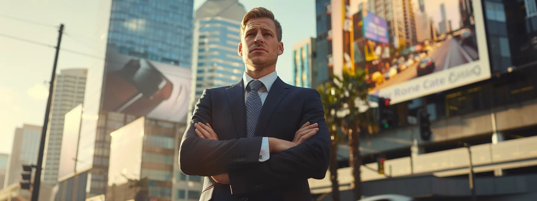
[[248, 86], [250, 87], [250, 94], [246, 99], [246, 137], [253, 137], [256, 132], [257, 120], [263, 107], [257, 91], [264, 85], [261, 81], [255, 79], [250, 81]]

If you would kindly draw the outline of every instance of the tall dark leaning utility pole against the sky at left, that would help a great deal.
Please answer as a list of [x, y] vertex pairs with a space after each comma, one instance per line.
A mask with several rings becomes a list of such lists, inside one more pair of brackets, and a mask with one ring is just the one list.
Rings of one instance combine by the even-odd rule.
[[56, 78], [56, 65], [58, 64], [58, 55], [60, 54], [60, 43], [62, 42], [63, 24], [60, 25], [58, 34], [58, 43], [56, 44], [56, 55], [54, 56], [54, 65], [52, 67], [52, 78], [48, 91], [47, 109], [45, 111], [45, 122], [43, 122], [43, 130], [41, 131], [41, 142], [39, 143], [39, 155], [37, 165], [35, 167], [34, 185], [32, 189], [32, 201], [38, 201], [39, 188], [41, 185], [41, 171], [43, 170], [43, 154], [45, 152], [45, 138], [47, 137], [48, 116], [50, 115], [50, 105], [52, 103], [52, 95], [54, 92], [54, 79]]

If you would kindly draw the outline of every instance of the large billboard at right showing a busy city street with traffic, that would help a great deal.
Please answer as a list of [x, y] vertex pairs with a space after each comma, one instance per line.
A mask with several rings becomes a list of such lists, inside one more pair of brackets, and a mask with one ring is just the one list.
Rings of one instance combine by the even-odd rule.
[[359, 9], [351, 34], [344, 22], [343, 46], [345, 64], [354, 65], [344, 70], [364, 70], [369, 93], [397, 103], [490, 78], [481, 1], [351, 0], [353, 6]]

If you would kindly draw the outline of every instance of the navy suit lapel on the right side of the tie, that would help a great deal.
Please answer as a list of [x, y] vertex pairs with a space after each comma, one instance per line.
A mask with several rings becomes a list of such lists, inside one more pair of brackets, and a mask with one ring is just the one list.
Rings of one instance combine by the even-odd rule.
[[280, 104], [281, 99], [284, 99], [284, 96], [289, 92], [289, 85], [284, 83], [278, 77], [274, 84], [272, 84], [269, 95], [263, 103], [263, 108], [261, 109], [261, 114], [259, 114], [259, 119], [257, 120], [256, 133], [255, 136], [263, 136], [263, 130], [265, 130], [267, 124], [269, 123], [270, 117], [276, 107]]

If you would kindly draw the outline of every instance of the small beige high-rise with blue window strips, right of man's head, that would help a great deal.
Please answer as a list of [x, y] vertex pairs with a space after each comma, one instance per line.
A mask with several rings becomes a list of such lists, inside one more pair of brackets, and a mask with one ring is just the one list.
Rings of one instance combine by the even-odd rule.
[[292, 48], [294, 85], [316, 88], [321, 82], [317, 79], [315, 38], [308, 37], [293, 44]]

